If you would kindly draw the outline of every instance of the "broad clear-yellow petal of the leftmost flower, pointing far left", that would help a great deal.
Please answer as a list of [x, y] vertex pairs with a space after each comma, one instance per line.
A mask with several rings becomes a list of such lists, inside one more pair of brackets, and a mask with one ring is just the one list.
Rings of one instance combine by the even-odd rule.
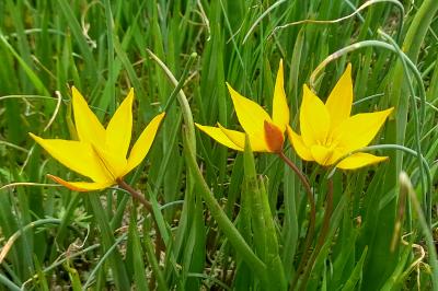
[[96, 182], [111, 179], [90, 143], [74, 140], [42, 139], [33, 133], [30, 135], [54, 159], [68, 168]]

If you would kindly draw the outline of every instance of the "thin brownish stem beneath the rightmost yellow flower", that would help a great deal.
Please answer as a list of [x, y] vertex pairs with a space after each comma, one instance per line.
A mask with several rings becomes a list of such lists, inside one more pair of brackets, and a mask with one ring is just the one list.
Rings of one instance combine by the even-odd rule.
[[322, 247], [324, 246], [325, 238], [328, 233], [330, 229], [330, 219], [332, 218], [332, 212], [333, 212], [333, 179], [328, 179], [328, 189], [327, 189], [327, 197], [325, 198], [325, 213], [324, 213], [324, 220], [322, 222], [321, 226], [321, 233], [320, 236], [318, 237], [318, 242], [315, 245], [315, 248], [309, 259], [309, 264], [307, 264], [307, 268], [304, 270], [304, 273], [301, 279], [301, 286], [299, 290], [306, 290], [307, 287], [307, 281], [309, 279], [310, 272], [312, 270], [313, 264], [316, 260], [318, 255], [320, 254]]

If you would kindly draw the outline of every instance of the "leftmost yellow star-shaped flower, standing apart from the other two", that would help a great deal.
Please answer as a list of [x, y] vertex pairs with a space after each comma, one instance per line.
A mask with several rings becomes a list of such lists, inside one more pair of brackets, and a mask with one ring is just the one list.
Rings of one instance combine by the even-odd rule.
[[77, 191], [97, 190], [117, 184], [148, 153], [164, 113], [145, 128], [126, 159], [132, 129], [134, 89], [117, 108], [106, 129], [91, 112], [85, 100], [72, 88], [74, 124], [79, 140], [31, 137], [53, 158], [93, 182], [67, 182], [48, 175], [55, 182]]

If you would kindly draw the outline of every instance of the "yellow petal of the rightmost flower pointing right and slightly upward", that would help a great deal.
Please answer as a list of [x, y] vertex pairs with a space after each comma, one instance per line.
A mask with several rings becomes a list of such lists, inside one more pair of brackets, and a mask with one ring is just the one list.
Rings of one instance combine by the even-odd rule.
[[393, 108], [376, 113], [357, 114], [339, 125], [333, 132], [335, 142], [350, 152], [368, 146], [376, 137], [384, 120], [392, 113]]

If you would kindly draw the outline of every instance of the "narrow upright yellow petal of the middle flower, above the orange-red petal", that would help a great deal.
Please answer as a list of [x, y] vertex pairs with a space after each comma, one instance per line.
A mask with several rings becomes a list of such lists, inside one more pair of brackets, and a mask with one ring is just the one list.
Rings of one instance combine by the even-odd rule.
[[281, 132], [285, 132], [286, 126], [289, 125], [290, 115], [284, 83], [283, 60], [280, 60], [274, 90], [273, 123], [281, 130]]

